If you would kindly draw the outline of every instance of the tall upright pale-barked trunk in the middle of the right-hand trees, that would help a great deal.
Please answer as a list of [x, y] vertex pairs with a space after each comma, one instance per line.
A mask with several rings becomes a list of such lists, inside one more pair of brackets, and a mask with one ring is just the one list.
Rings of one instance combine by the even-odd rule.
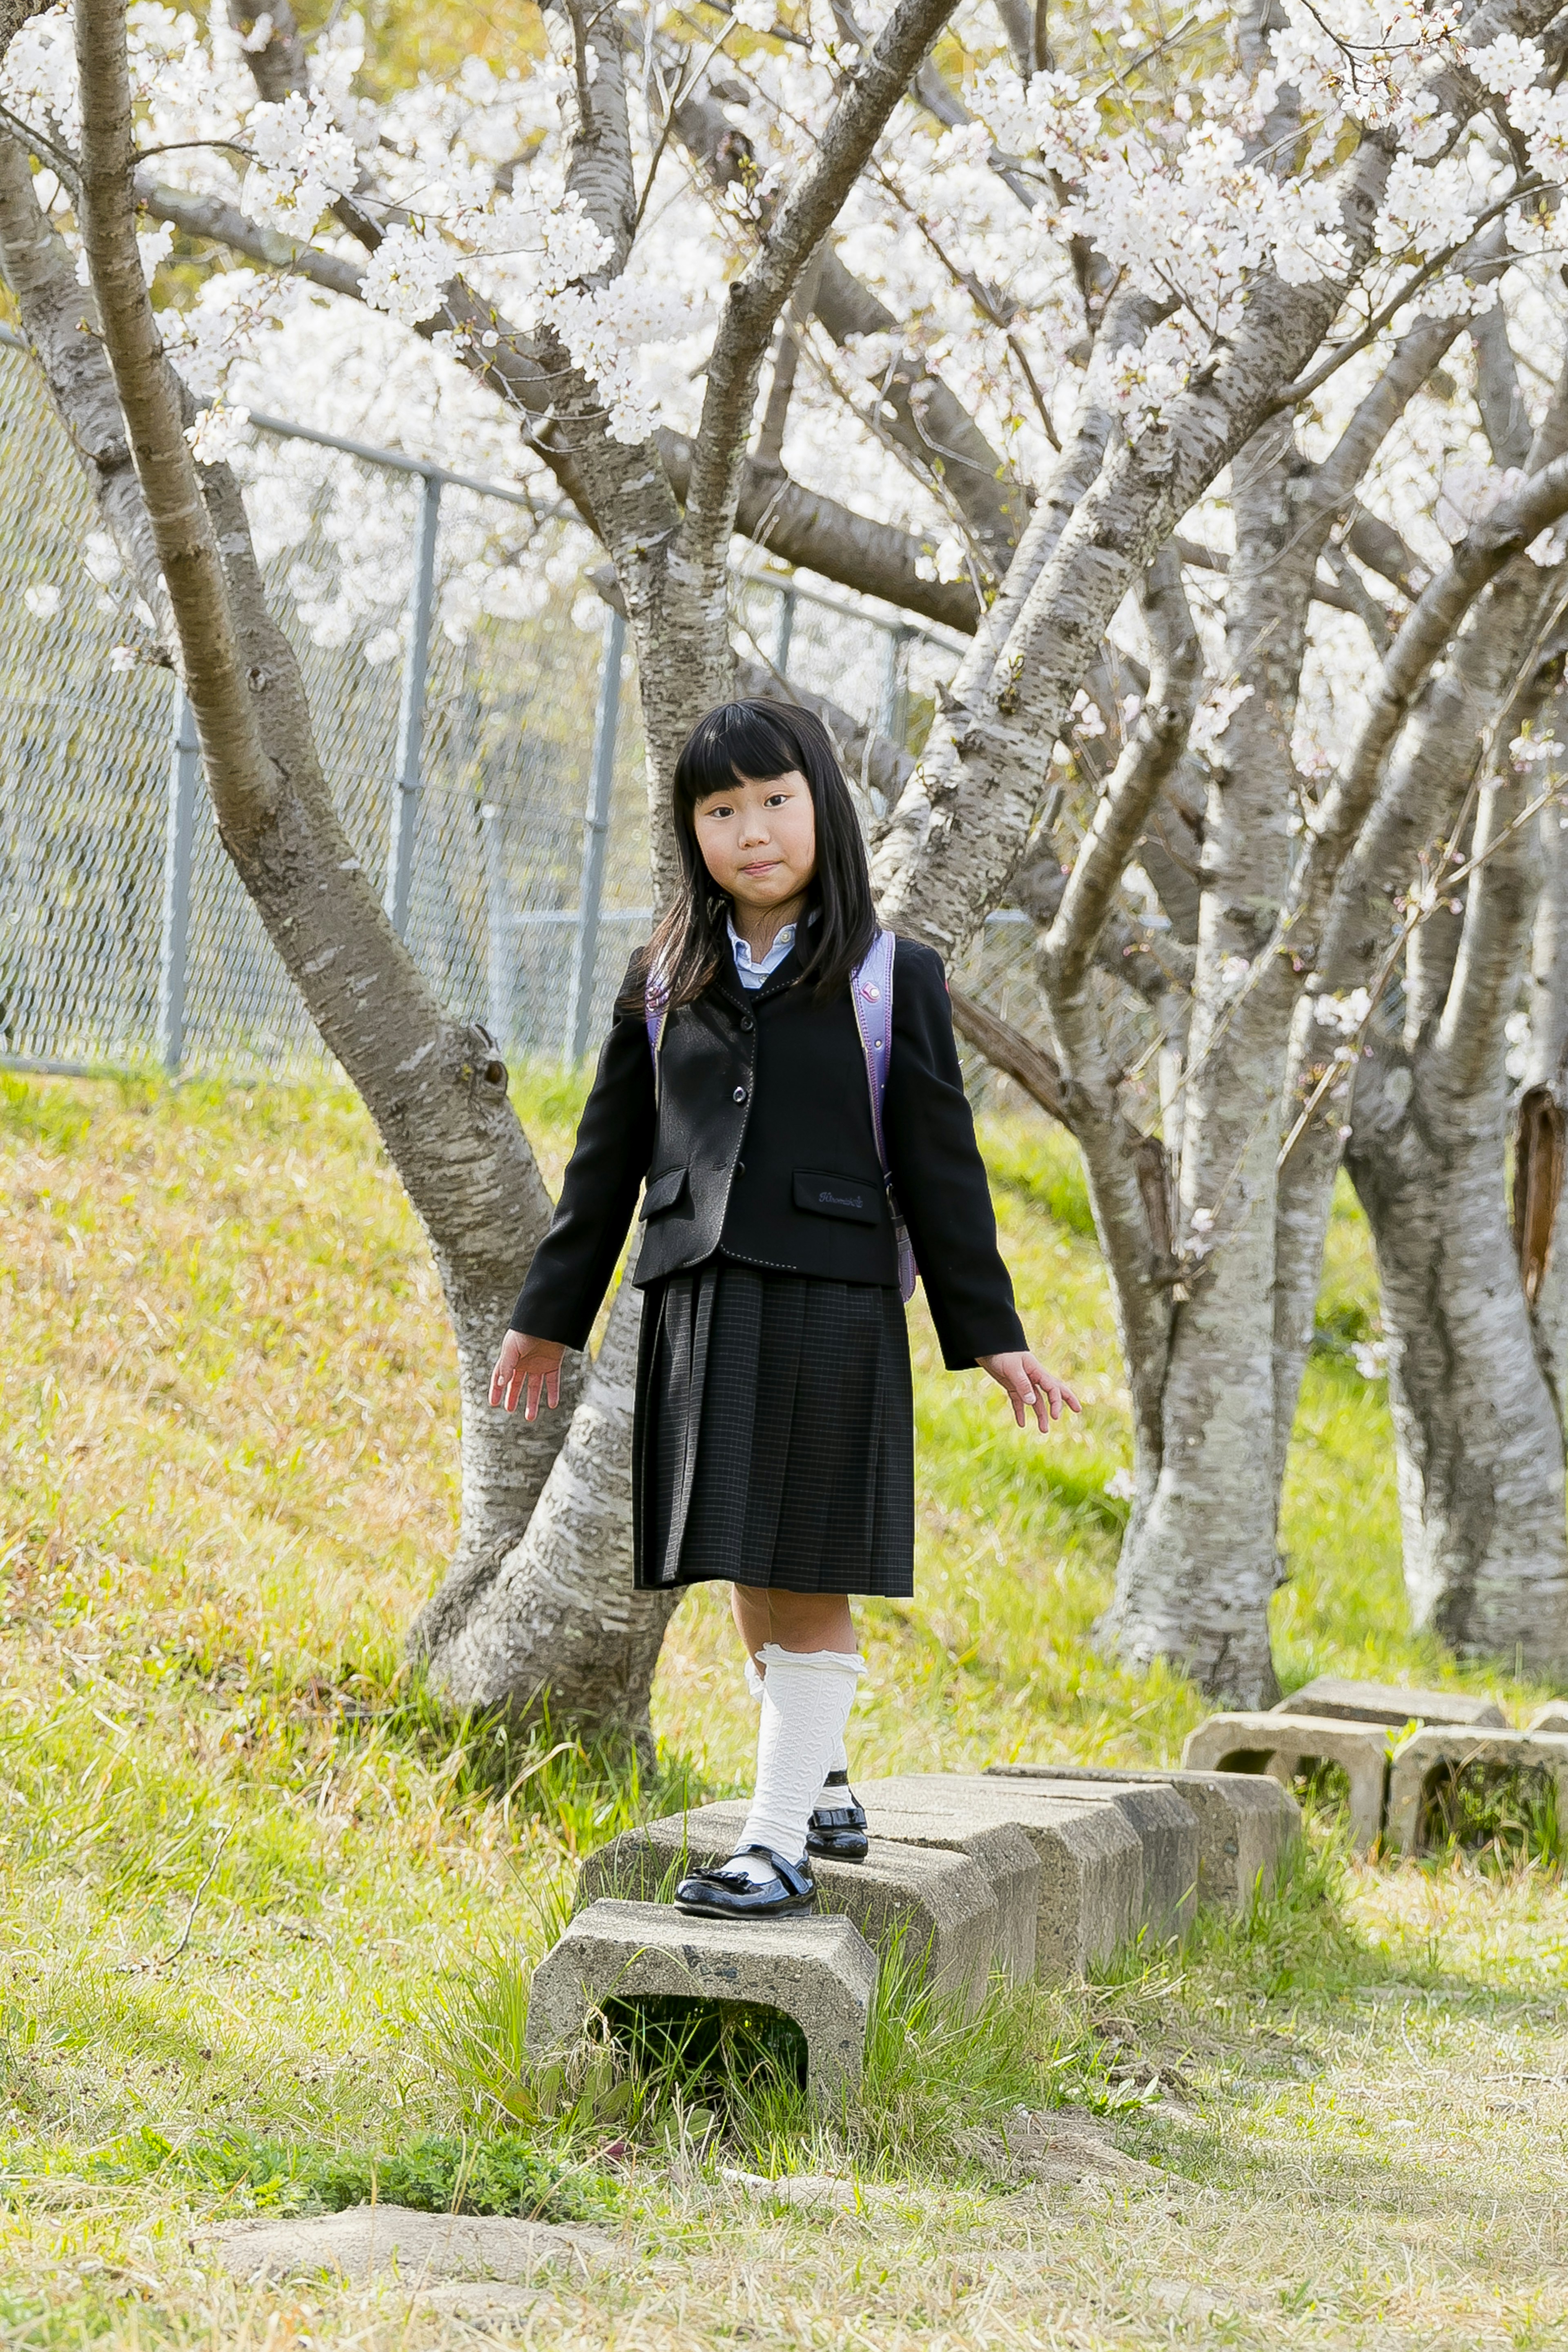
[[[1215, 1698], [1276, 1693], [1274, 1221], [1284, 1054], [1295, 981], [1267, 957], [1291, 870], [1286, 795], [1316, 534], [1288, 419], [1237, 468], [1229, 661], [1253, 687], [1225, 731], [1204, 842], [1199, 969], [1180, 1160], [1178, 1294], [1161, 1461], [1128, 1526], [1105, 1637], [1178, 1658]], [[1305, 567], [1305, 579], [1300, 576]]]

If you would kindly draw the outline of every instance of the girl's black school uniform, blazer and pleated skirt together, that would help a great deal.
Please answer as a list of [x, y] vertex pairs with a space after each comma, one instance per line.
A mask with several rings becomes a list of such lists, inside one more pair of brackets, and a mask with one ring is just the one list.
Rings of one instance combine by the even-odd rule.
[[[893, 1190], [952, 1371], [1023, 1348], [940, 957], [900, 938], [884, 1101]], [[914, 1590], [914, 1406], [865, 1051], [795, 950], [733, 957], [665, 1021], [618, 1011], [515, 1331], [583, 1348], [637, 1192], [646, 1294], [635, 1581]]]

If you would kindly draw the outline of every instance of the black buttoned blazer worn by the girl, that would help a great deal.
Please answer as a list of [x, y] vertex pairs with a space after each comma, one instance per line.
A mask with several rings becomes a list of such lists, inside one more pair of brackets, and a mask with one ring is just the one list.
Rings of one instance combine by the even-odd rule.
[[[846, 993], [818, 1004], [797, 981], [790, 953], [752, 995], [726, 955], [665, 1021], [658, 1103], [642, 1014], [616, 1014], [515, 1331], [588, 1343], [644, 1178], [642, 1289], [715, 1251], [830, 1282], [898, 1282], [853, 1007]], [[893, 962], [884, 1127], [947, 1367], [1023, 1348], [943, 964], [907, 938]]]

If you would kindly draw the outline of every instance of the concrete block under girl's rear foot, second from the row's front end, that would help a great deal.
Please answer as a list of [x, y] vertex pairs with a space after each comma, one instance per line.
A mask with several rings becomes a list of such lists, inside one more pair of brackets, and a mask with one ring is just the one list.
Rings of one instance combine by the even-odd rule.
[[[675, 1879], [691, 1863], [722, 1863], [736, 1851], [745, 1804], [703, 1804], [691, 1813], [649, 1820], [590, 1853], [578, 1872], [578, 1903], [592, 1896], [670, 1900]], [[818, 1915], [853, 1919], [865, 1940], [886, 1952], [903, 1931], [910, 1959], [926, 1957], [931, 1980], [978, 2006], [985, 1999], [999, 1940], [997, 1896], [966, 1853], [889, 1846], [872, 1837], [863, 1863], [811, 1856]], [[743, 1919], [750, 1933], [757, 1922]]]

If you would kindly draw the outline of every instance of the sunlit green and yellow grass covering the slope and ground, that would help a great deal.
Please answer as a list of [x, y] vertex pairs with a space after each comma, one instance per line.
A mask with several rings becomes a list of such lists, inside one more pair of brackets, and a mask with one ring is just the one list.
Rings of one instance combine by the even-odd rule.
[[[555, 1178], [581, 1080], [517, 1096]], [[985, 1148], [1032, 1338], [1088, 1409], [1020, 1439], [912, 1310], [919, 1599], [863, 1611], [856, 1764], [1161, 1762], [1199, 1700], [1091, 1644], [1128, 1437], [1081, 1176], [1032, 1115], [987, 1117]], [[1568, 2343], [1568, 1905], [1528, 1790], [1455, 1792], [1483, 1851], [1396, 1870], [1349, 1860], [1326, 1802], [1248, 1919], [1063, 1994], [997, 1987], [969, 2023], [891, 1969], [837, 2114], [745, 2020], [630, 2089], [595, 2051], [541, 2079], [527, 1971], [578, 1858], [748, 1771], [722, 1597], [672, 1623], [649, 1780], [454, 1726], [409, 1675], [456, 1381], [353, 1098], [2, 1080], [0, 1218], [0, 2340], [465, 2338], [407, 2291], [240, 2291], [200, 2251], [240, 2213], [374, 2194], [609, 2230], [592, 2288], [515, 2319], [541, 2345]], [[1375, 1331], [1340, 1200], [1284, 1677], [1523, 1708], [1535, 1686], [1408, 1628]], [[1030, 2180], [1020, 2107], [1157, 2173]], [[726, 2173], [860, 2187], [825, 2227]]]

